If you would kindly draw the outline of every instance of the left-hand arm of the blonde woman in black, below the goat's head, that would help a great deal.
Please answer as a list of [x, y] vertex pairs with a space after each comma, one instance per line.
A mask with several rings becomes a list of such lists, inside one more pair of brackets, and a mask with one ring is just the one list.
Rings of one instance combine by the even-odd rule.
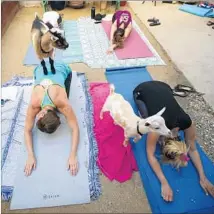
[[154, 155], [158, 139], [159, 139], [159, 135], [157, 135], [155, 133], [149, 133], [147, 136], [146, 150], [147, 150], [148, 161], [161, 183], [161, 195], [162, 195], [163, 199], [165, 201], [172, 201], [173, 200], [172, 189], [170, 188], [168, 181], [166, 180], [166, 178], [161, 170], [160, 164]]

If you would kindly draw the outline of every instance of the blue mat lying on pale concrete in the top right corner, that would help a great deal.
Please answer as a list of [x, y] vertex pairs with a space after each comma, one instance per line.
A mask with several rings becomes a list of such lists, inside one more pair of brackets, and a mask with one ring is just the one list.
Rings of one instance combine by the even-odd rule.
[[183, 4], [179, 10], [191, 13], [196, 16], [201, 16], [201, 17], [214, 17], [214, 10], [213, 9], [207, 9], [207, 8], [202, 8], [198, 7], [197, 5], [189, 5], [189, 4]]

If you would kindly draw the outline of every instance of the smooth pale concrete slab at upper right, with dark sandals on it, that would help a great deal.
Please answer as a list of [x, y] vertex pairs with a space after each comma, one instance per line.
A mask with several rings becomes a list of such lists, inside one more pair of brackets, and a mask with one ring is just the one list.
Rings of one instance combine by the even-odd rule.
[[[180, 11], [181, 4], [130, 1], [130, 7], [166, 50], [179, 70], [214, 109], [214, 30], [209, 18]], [[156, 17], [161, 25], [150, 27], [147, 20]]]

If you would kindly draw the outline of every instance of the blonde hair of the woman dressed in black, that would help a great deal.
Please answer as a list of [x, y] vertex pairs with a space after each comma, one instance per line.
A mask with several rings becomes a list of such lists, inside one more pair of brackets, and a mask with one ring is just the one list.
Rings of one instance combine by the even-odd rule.
[[173, 139], [167, 139], [162, 147], [162, 158], [163, 163], [173, 165], [175, 168], [185, 167], [188, 163], [188, 152], [186, 144], [182, 141]]

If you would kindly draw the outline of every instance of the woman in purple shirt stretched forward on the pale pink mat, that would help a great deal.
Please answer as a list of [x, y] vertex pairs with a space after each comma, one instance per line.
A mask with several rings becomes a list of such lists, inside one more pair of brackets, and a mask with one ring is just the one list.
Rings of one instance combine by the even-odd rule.
[[131, 30], [131, 13], [127, 10], [118, 10], [112, 17], [110, 47], [107, 54], [112, 53], [116, 48], [123, 48], [124, 41], [130, 35]]

